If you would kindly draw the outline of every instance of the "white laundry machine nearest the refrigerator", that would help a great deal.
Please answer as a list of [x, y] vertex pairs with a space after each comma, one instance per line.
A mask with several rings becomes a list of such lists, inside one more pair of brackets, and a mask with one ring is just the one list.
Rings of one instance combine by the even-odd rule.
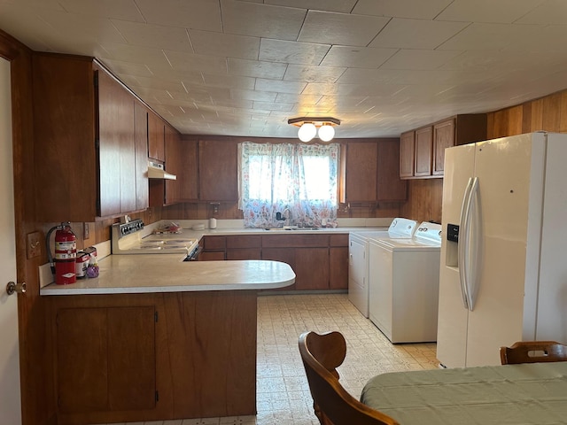
[[411, 239], [370, 238], [369, 319], [393, 344], [437, 339], [441, 225]]

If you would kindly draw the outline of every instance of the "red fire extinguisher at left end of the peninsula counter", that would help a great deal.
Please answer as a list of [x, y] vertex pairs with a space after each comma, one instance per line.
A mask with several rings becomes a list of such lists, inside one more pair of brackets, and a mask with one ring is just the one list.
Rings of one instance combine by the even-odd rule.
[[[50, 236], [54, 230], [57, 230], [57, 232], [55, 232], [55, 259], [51, 256], [49, 247]], [[67, 285], [77, 282], [77, 276], [75, 274], [77, 236], [74, 235], [71, 229], [71, 223], [61, 223], [59, 226], [50, 228], [50, 231], [47, 233], [46, 243], [48, 243], [47, 252], [51, 272], [55, 274], [55, 283], [58, 285]]]

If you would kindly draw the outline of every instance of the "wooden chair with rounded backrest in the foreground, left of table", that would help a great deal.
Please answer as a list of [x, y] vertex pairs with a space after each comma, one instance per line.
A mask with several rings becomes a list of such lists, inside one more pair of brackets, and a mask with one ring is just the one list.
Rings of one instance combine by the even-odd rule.
[[338, 383], [339, 367], [346, 356], [345, 337], [339, 332], [299, 336], [299, 353], [314, 401], [315, 415], [322, 425], [396, 425], [390, 416], [353, 398]]

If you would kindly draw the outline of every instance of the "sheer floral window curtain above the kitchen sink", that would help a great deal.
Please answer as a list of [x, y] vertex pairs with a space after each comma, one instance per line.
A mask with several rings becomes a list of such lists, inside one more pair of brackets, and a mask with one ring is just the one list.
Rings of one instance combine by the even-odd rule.
[[337, 226], [338, 143], [239, 143], [238, 207], [246, 228]]

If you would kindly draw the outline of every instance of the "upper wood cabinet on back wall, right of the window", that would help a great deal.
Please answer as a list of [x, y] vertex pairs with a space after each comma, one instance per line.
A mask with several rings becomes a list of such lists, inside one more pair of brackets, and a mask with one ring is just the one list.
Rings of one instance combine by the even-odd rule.
[[346, 145], [345, 196], [341, 202], [405, 200], [407, 183], [400, 181], [400, 140], [369, 139]]

